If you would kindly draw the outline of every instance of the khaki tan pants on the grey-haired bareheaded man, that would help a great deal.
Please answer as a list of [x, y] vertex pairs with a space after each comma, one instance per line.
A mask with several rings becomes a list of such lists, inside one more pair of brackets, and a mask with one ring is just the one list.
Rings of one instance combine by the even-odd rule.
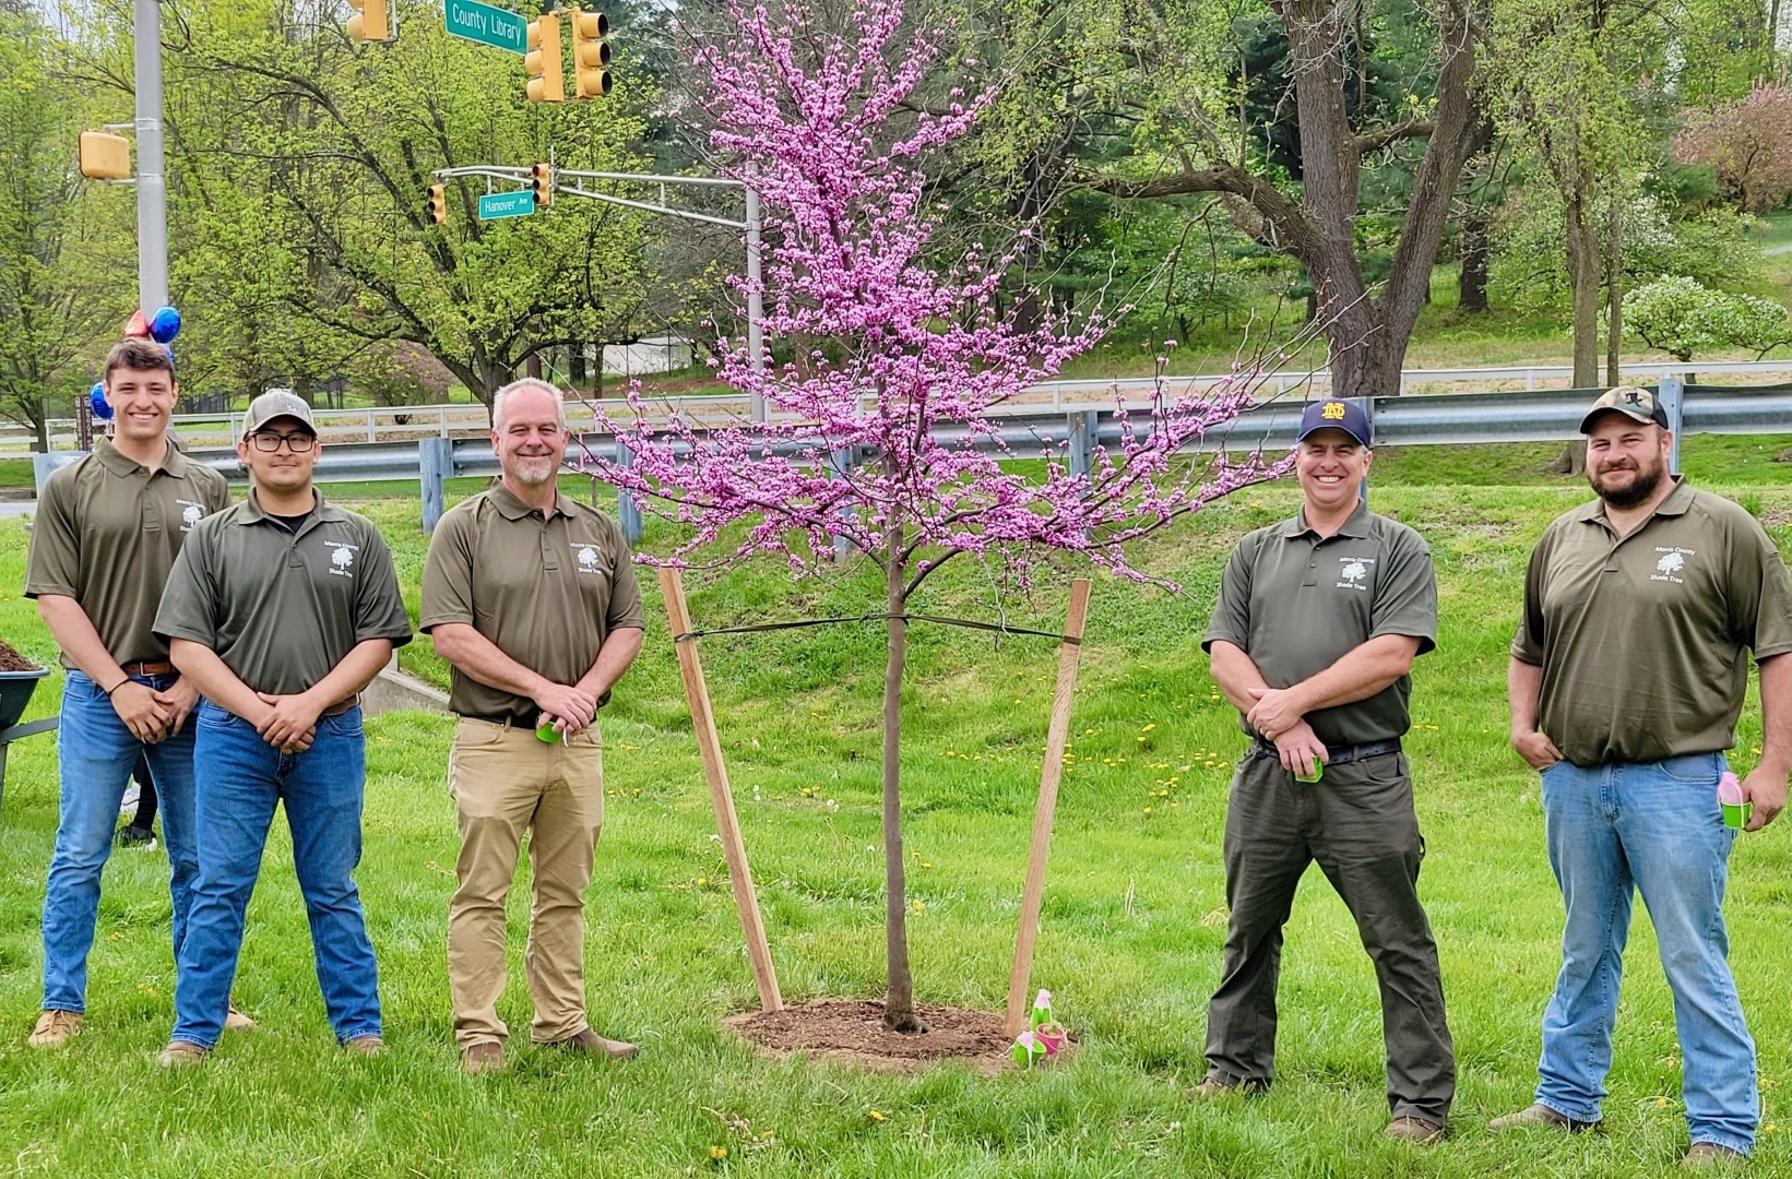
[[448, 794], [461, 812], [459, 887], [448, 905], [448, 989], [455, 1045], [502, 1043], [504, 899], [529, 831], [530, 1037], [577, 1036], [584, 1020], [584, 889], [604, 828], [604, 744], [597, 726], [563, 744], [534, 729], [462, 717], [448, 751]]

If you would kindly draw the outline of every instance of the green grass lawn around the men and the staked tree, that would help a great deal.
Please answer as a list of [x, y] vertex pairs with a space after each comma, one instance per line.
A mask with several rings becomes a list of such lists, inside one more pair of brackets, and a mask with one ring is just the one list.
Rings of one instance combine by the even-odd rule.
[[[1480, 455], [1482, 452], [1477, 452]], [[1539, 452], [1541, 453], [1541, 452]], [[1409, 457], [1412, 455], [1412, 457]], [[1541, 455], [1546, 459], [1546, 455]], [[1715, 466], [1744, 469], [1731, 455]], [[715, 824], [654, 579], [649, 645], [604, 713], [609, 821], [588, 908], [593, 1023], [643, 1045], [629, 1064], [514, 1048], [509, 1073], [455, 1064], [444, 973], [453, 808], [448, 722], [369, 722], [366, 860], [391, 1052], [346, 1059], [323, 1018], [290, 849], [276, 824], [251, 907], [237, 998], [260, 1021], [199, 1070], [163, 1073], [170, 1027], [167, 864], [118, 853], [91, 955], [90, 1023], [61, 1054], [23, 1046], [38, 1009], [38, 914], [56, 826], [54, 749], [14, 747], [0, 817], [0, 1170], [56, 1175], [1654, 1175], [1684, 1150], [1672, 1007], [1638, 912], [1620, 1009], [1609, 1132], [1491, 1138], [1489, 1116], [1534, 1086], [1538, 1021], [1557, 968], [1561, 903], [1541, 848], [1536, 778], [1505, 745], [1503, 674], [1525, 555], [1584, 487], [1518, 478], [1464, 486], [1473, 455], [1385, 455], [1374, 503], [1437, 555], [1443, 640], [1416, 670], [1423, 894], [1437, 928], [1459, 1052], [1453, 1138], [1387, 1143], [1374, 978], [1353, 925], [1310, 873], [1288, 926], [1278, 1084], [1258, 1100], [1192, 1104], [1202, 1016], [1219, 977], [1220, 821], [1236, 715], [1199, 650], [1229, 545], [1294, 505], [1251, 489], [1142, 555], [1181, 593], [1097, 577], [1072, 762], [1034, 985], [1057, 996], [1081, 1050], [1034, 1073], [914, 1077], [769, 1061], [719, 1030], [754, 1005]], [[1511, 464], [1512, 469], [1525, 466]], [[1747, 468], [1754, 469], [1754, 468]], [[1779, 468], [1783, 471], [1783, 468]], [[1792, 548], [1787, 480], [1738, 498]], [[1439, 480], [1439, 482], [1428, 482]], [[1450, 482], [1444, 482], [1450, 480]], [[1711, 482], [1717, 482], [1715, 471]], [[1521, 486], [1514, 486], [1521, 484]], [[364, 500], [392, 543], [409, 606], [425, 541], [410, 500]], [[27, 529], [0, 521], [0, 634], [39, 659], [52, 643], [18, 595]], [[663, 538], [649, 532], [649, 548]], [[1059, 625], [1052, 570], [1002, 606]], [[876, 607], [864, 563], [790, 584], [774, 561], [699, 584], [701, 625]], [[973, 564], [930, 582], [928, 613], [989, 616]], [[787, 1000], [882, 991], [878, 729], [882, 633], [830, 627], [704, 640], [737, 806]], [[407, 665], [441, 677], [428, 641]], [[905, 806], [916, 982], [923, 1000], [1000, 1009], [1012, 953], [1055, 650], [918, 627], [905, 697]], [[57, 677], [27, 715], [56, 708]], [[1744, 713], [1736, 762], [1760, 747]], [[1762, 1050], [1754, 1172], [1792, 1166], [1792, 856], [1787, 824], [1738, 842], [1729, 925]], [[523, 869], [527, 876], [527, 869]], [[527, 1039], [521, 894], [511, 989]], [[874, 1113], [873, 1113], [874, 1111]], [[713, 1150], [726, 1150], [715, 1159]]]

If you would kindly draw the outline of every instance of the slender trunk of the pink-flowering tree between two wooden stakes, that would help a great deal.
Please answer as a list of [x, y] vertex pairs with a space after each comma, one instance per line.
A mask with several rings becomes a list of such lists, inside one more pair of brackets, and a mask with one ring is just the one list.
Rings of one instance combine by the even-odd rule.
[[[885, 466], [894, 457], [885, 455]], [[891, 521], [883, 554], [889, 654], [883, 663], [883, 948], [889, 957], [889, 993], [883, 996], [883, 1027], [891, 1032], [925, 1032], [914, 1014], [914, 973], [909, 969], [909, 880], [901, 853], [901, 674], [909, 659], [909, 624], [903, 613], [901, 559], [907, 529]]]

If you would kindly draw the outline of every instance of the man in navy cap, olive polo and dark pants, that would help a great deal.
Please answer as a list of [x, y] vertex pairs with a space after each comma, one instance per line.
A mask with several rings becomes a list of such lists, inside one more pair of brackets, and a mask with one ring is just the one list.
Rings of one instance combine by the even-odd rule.
[[1238, 541], [1202, 640], [1254, 740], [1226, 805], [1231, 917], [1208, 1007], [1208, 1077], [1195, 1093], [1256, 1091], [1274, 1079], [1281, 930], [1317, 860], [1374, 960], [1387, 1134], [1432, 1143], [1450, 1116], [1455, 1054], [1417, 896], [1425, 840], [1400, 738], [1412, 659], [1437, 640], [1437, 581], [1419, 534], [1360, 500], [1371, 459], [1358, 405], [1306, 407], [1296, 443], [1301, 512]]

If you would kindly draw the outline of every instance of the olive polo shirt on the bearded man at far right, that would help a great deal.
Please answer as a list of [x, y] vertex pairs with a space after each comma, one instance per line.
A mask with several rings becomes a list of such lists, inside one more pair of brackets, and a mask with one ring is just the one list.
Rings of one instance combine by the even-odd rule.
[[1541, 727], [1575, 765], [1729, 749], [1749, 650], [1792, 650], [1785, 561], [1749, 512], [1684, 478], [1622, 539], [1593, 500], [1530, 554], [1512, 658], [1543, 668]]

